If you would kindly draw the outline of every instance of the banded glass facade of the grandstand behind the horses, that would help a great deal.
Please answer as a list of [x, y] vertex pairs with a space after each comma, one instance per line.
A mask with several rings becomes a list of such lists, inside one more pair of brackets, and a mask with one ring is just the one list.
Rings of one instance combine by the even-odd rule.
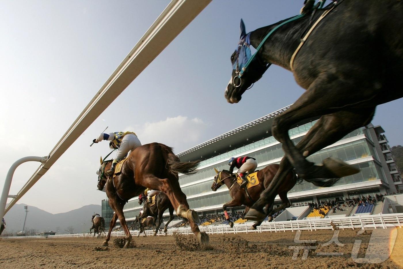
[[[316, 121], [309, 122], [307, 124], [289, 130], [290, 137], [304, 134], [305, 132], [310, 130], [315, 122]], [[303, 139], [302, 135], [292, 139], [292, 141], [294, 144], [297, 144], [299, 143], [299, 141], [301, 141], [301, 139]], [[327, 149], [322, 149], [321, 151], [318, 151], [317, 153], [308, 157], [307, 160], [316, 164], [321, 164], [324, 159], [329, 157], [338, 158], [345, 162], [357, 160], [357, 164], [354, 164], [354, 166], [359, 168], [360, 172], [348, 177], [343, 177], [334, 186], [362, 183], [376, 179], [380, 179], [381, 181], [386, 182], [384, 173], [382, 172], [382, 167], [379, 165], [378, 162], [379, 158], [374, 149], [374, 143], [371, 140], [368, 130], [363, 128], [354, 130], [353, 132], [343, 137], [341, 141], [343, 142], [337, 143], [340, 145], [329, 147]], [[233, 149], [229, 152], [222, 153], [218, 156], [214, 156], [202, 161], [199, 165], [201, 169], [197, 170], [195, 174], [181, 175], [179, 177], [179, 184], [181, 185], [182, 191], [187, 195], [187, 197], [197, 195], [197, 197], [187, 199], [190, 208], [218, 206], [232, 200], [229, 195], [229, 191], [225, 185], [222, 186], [220, 190], [226, 189], [226, 191], [217, 193], [211, 190], [211, 186], [213, 183], [212, 179], [216, 175], [214, 168], [216, 168], [217, 170], [228, 170], [229, 158], [247, 154], [247, 156], [256, 158], [256, 161], [258, 162], [258, 169], [262, 169], [267, 165], [267, 162], [278, 163], [280, 161], [280, 158], [284, 156], [284, 152], [281, 147], [282, 145], [278, 143], [278, 141], [276, 141], [274, 137], [267, 137], [256, 142], [253, 141], [249, 145]], [[291, 189], [291, 191], [289, 191], [289, 193], [311, 191], [320, 188], [321, 187], [316, 187], [312, 183], [303, 181], [301, 184], [295, 185]], [[141, 210], [137, 199], [128, 202], [125, 205], [125, 209], [131, 209], [125, 212], [126, 218], [134, 218], [139, 214], [139, 211]]]

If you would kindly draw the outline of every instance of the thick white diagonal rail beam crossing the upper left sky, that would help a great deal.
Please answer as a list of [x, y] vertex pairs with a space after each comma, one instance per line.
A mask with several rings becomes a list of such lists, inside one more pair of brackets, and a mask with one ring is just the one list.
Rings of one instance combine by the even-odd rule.
[[17, 193], [17, 197], [8, 204], [4, 214], [210, 2], [211, 0], [172, 0], [168, 4], [150, 29], [145, 32], [144, 36], [137, 42], [60, 141], [50, 151], [48, 161], [39, 166], [24, 187]]

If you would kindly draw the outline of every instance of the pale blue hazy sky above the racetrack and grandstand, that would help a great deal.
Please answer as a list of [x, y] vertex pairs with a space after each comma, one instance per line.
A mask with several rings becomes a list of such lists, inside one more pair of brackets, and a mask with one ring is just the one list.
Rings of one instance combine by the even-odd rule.
[[[0, 187], [19, 158], [48, 155], [169, 2], [0, 0]], [[224, 90], [240, 19], [253, 31], [297, 15], [302, 2], [212, 1], [17, 203], [54, 214], [100, 204], [96, 171], [110, 150], [105, 141], [89, 145], [106, 126], [179, 153], [292, 104], [303, 88], [278, 66], [237, 104]], [[391, 146], [403, 143], [402, 103], [378, 106], [372, 120]], [[10, 194], [38, 166], [20, 165]]]

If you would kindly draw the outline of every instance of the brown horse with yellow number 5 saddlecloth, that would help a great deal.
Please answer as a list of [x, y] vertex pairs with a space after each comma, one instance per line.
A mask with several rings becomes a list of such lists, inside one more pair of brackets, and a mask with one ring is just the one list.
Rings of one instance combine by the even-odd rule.
[[[253, 205], [253, 203], [259, 199], [260, 193], [262, 193], [262, 191], [264, 191], [264, 189], [266, 189], [266, 187], [270, 184], [270, 182], [276, 175], [278, 168], [279, 168], [278, 164], [270, 164], [265, 168], [263, 168], [262, 170], [259, 170], [257, 173], [259, 184], [247, 189], [249, 196], [245, 192], [245, 188], [237, 184], [235, 174], [230, 174], [229, 171], [227, 170], [222, 170], [221, 172], [218, 172], [216, 170], [217, 175], [214, 177], [214, 182], [213, 185], [211, 186], [211, 189], [213, 191], [216, 191], [219, 187], [225, 184], [229, 189], [229, 195], [231, 195], [231, 198], [233, 198], [231, 201], [222, 206], [226, 220], [229, 221], [229, 216], [226, 212], [227, 207], [245, 205], [246, 208], [244, 214], [246, 214], [249, 211], [249, 208]], [[330, 187], [334, 183], [336, 183], [337, 180], [338, 179], [330, 179], [327, 181], [322, 179], [307, 179], [307, 182], [313, 183], [318, 187]], [[268, 204], [266, 204], [266, 214], [269, 216], [268, 221], [272, 220], [272, 214], [291, 206], [291, 203], [287, 198], [287, 193], [290, 189], [294, 187], [297, 181], [302, 180], [298, 179], [297, 174], [295, 174], [295, 172], [289, 171], [285, 179], [282, 181], [282, 184], [277, 189], [277, 193], [275, 193], [272, 197], [270, 197], [270, 201], [268, 202]], [[283, 203], [281, 204], [281, 206], [273, 210], [274, 199], [276, 198], [277, 194], [278, 196], [280, 196], [281, 202]], [[262, 221], [257, 221], [252, 225], [250, 229], [255, 230], [256, 227], [259, 226], [261, 223]], [[232, 221], [229, 221], [229, 225], [232, 228], [234, 223]]]

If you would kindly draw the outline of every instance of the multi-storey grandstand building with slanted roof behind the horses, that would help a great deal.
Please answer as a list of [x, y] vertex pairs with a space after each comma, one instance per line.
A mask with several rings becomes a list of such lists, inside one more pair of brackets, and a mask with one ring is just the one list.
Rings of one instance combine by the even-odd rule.
[[[245, 155], [256, 158], [257, 169], [280, 162], [284, 152], [281, 143], [272, 136], [271, 126], [273, 119], [289, 108], [290, 106], [270, 113], [177, 154], [182, 162], [202, 160], [195, 174], [179, 175], [179, 183], [187, 196], [190, 208], [200, 215], [222, 212], [222, 205], [231, 200], [228, 188], [224, 185], [217, 191], [212, 191], [211, 185], [216, 175], [214, 168], [228, 170], [229, 158]], [[291, 140], [295, 144], [298, 143], [317, 120], [318, 118], [311, 118], [293, 126], [289, 130]], [[316, 164], [321, 164], [328, 157], [339, 158], [357, 166], [360, 172], [340, 179], [333, 187], [316, 187], [305, 181], [295, 185], [288, 193], [291, 203], [319, 204], [321, 200], [326, 199], [356, 198], [367, 194], [374, 197], [377, 193], [403, 191], [399, 168], [384, 132], [381, 126], [368, 124], [308, 157], [309, 161]], [[278, 196], [275, 201], [280, 203]], [[141, 208], [137, 198], [131, 199], [124, 207], [126, 220], [135, 219]], [[107, 200], [103, 200], [102, 215], [107, 222], [112, 214]], [[167, 215], [168, 212], [164, 214]]]

